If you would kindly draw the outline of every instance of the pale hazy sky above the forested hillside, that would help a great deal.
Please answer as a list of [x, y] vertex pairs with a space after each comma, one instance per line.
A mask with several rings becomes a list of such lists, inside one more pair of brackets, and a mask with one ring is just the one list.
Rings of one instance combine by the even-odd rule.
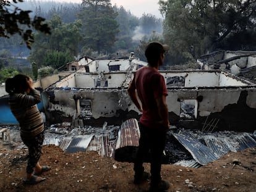
[[[82, 0], [53, 0], [58, 2], [82, 2]], [[111, 0], [111, 4], [116, 4], [118, 7], [123, 6], [124, 9], [130, 10], [132, 14], [141, 17], [143, 13], [155, 15], [161, 18], [158, 5], [159, 0]]]

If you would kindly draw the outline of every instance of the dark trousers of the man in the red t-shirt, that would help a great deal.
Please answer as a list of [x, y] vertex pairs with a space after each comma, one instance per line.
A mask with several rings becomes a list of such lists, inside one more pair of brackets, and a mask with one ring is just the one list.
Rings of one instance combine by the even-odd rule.
[[166, 131], [161, 128], [147, 128], [139, 123], [140, 140], [139, 149], [135, 157], [135, 175], [140, 175], [144, 171], [143, 161], [148, 152], [151, 152], [151, 184], [161, 180], [161, 161], [166, 143]]

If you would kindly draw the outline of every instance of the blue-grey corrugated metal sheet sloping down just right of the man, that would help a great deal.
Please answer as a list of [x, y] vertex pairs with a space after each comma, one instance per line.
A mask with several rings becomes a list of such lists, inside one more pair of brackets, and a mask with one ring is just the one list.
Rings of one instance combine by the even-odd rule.
[[173, 136], [190, 152], [199, 164], [206, 165], [208, 162], [218, 159], [218, 156], [210, 148], [200, 143], [187, 131], [173, 133]]

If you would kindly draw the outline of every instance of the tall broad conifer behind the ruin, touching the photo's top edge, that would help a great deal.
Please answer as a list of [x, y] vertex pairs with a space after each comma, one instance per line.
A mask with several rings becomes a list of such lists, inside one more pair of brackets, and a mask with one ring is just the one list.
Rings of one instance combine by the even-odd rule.
[[98, 54], [111, 52], [118, 33], [116, 16], [109, 0], [83, 0], [79, 17], [85, 46]]

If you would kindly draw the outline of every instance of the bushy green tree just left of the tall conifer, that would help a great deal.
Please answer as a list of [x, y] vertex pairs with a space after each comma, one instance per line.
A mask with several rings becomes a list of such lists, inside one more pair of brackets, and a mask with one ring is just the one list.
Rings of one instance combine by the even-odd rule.
[[48, 25], [52, 28], [51, 36], [36, 33], [36, 42], [28, 59], [38, 67], [52, 66], [57, 69], [67, 62], [74, 61], [74, 56], [78, 55], [82, 24], [80, 20], [62, 23], [61, 18], [54, 15]]

